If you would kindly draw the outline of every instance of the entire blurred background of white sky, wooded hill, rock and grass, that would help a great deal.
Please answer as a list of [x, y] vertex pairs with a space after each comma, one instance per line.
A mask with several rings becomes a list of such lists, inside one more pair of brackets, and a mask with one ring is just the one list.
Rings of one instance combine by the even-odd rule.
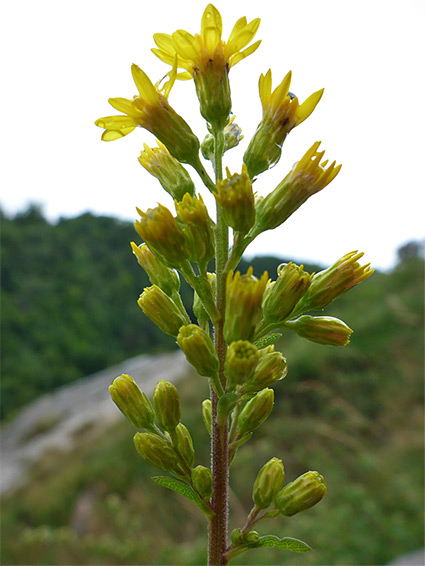
[[[316, 140], [343, 163], [285, 226], [258, 238], [241, 270], [252, 264], [273, 277], [294, 260], [313, 272], [354, 249], [377, 268], [326, 310], [354, 329], [348, 347], [284, 334], [289, 373], [275, 388], [275, 410], [232, 467], [231, 528], [244, 522], [252, 483], [272, 456], [283, 459], [288, 480], [308, 469], [325, 476], [329, 490], [317, 508], [264, 527], [314, 550], [252, 551], [235, 564], [388, 564], [424, 545], [423, 183], [415, 165], [425, 7], [215, 5], [224, 38], [240, 16], [262, 18], [262, 45], [231, 71], [245, 139], [225, 164], [240, 170], [261, 118], [258, 77], [268, 68], [275, 86], [292, 69], [301, 101], [323, 86], [325, 94], [257, 181], [258, 193], [272, 190]], [[207, 383], [136, 304], [149, 281], [129, 246], [139, 243], [135, 206], [172, 203], [137, 161], [143, 142], [154, 143], [147, 132], [108, 144], [93, 125], [115, 113], [110, 96], [134, 94], [131, 63], [154, 81], [167, 71], [149, 53], [152, 34], [195, 32], [203, 9], [169, 0], [160, 8], [130, 0], [2, 7], [2, 564], [206, 561], [201, 513], [149, 479], [158, 470], [136, 454], [134, 430], [107, 394], [121, 372], [148, 393], [160, 378], [178, 382], [196, 463], [208, 465], [200, 418]], [[170, 102], [202, 139], [193, 85], [176, 85]], [[184, 284], [182, 296], [190, 305]]]

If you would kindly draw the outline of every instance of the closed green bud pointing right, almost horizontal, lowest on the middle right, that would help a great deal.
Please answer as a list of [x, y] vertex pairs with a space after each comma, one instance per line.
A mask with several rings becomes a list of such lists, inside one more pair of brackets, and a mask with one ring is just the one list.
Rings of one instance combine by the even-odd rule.
[[299, 336], [326, 346], [346, 346], [353, 333], [345, 322], [332, 316], [300, 316], [285, 322], [285, 327]]

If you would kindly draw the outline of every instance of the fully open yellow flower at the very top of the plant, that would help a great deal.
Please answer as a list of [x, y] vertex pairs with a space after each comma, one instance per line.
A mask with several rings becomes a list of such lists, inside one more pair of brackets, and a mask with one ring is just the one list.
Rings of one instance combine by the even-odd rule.
[[202, 16], [200, 35], [192, 35], [185, 30], [177, 30], [172, 35], [154, 35], [158, 46], [152, 49], [155, 55], [168, 64], [173, 64], [177, 57], [178, 67], [185, 69], [177, 78], [184, 80], [193, 77], [201, 114], [213, 129], [222, 129], [228, 122], [232, 108], [229, 69], [260, 45], [261, 41], [257, 41], [246, 47], [259, 25], [259, 18], [250, 23], [246, 17], [240, 18], [227, 42], [223, 41], [220, 12], [208, 4]]

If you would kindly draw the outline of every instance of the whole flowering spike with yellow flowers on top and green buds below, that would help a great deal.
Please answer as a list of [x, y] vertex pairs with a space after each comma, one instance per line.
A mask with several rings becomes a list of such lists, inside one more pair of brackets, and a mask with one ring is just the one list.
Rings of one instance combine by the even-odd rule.
[[[121, 114], [96, 121], [105, 129], [102, 139], [106, 141], [122, 138], [138, 126], [157, 138], [157, 147], [144, 144], [138, 159], [171, 195], [176, 215], [162, 204], [147, 211], [137, 208], [135, 229], [143, 243], [132, 242], [131, 247], [151, 282], [137, 302], [151, 321], [176, 339], [197, 373], [210, 380], [211, 399], [203, 402], [202, 415], [212, 437], [217, 474], [214, 471], [213, 477], [202, 465], [194, 467], [192, 438], [180, 422], [180, 399], [172, 383], [160, 380], [151, 403], [130, 376], [122, 375], [110, 386], [111, 396], [126, 418], [141, 429], [134, 437], [137, 451], [188, 484], [192, 489], [189, 498], [209, 519], [217, 509], [227, 512], [227, 504], [219, 499], [226, 497], [222, 483], [228, 477], [229, 462], [271, 414], [272, 387], [288, 372], [286, 358], [275, 351], [273, 342], [279, 335], [273, 332], [291, 330], [318, 344], [345, 346], [352, 330], [337, 318], [314, 316], [310, 311], [327, 307], [373, 272], [369, 264], [358, 263], [363, 255], [358, 252], [346, 254], [317, 274], [292, 262], [278, 267], [275, 280], [267, 272], [256, 277], [252, 267], [245, 274], [235, 272], [257, 236], [283, 224], [341, 169], [335, 161], [328, 164], [325, 152], [319, 149], [321, 142], [315, 142], [274, 190], [264, 197], [254, 194], [254, 181], [257, 187], [259, 175], [278, 163], [286, 137], [312, 114], [323, 95], [323, 89], [318, 90], [300, 103], [289, 91], [291, 71], [273, 90], [268, 70], [259, 79], [262, 117], [243, 156], [241, 172], [232, 174], [226, 168], [223, 178], [223, 155], [243, 137], [231, 115], [229, 72], [258, 48], [260, 41], [252, 40], [259, 24], [258, 18], [248, 22], [242, 17], [225, 41], [221, 15], [209, 4], [199, 34], [181, 29], [171, 35], [155, 34], [152, 51], [170, 65], [165, 84], [153, 84], [133, 65], [138, 94], [132, 99], [111, 98], [110, 104]], [[194, 82], [208, 130], [202, 144], [168, 102], [177, 79]], [[206, 172], [200, 150], [212, 162], [215, 180]], [[215, 222], [183, 164], [193, 167], [214, 197]], [[216, 273], [208, 271], [213, 258]], [[180, 275], [194, 291], [193, 309], [183, 304]], [[179, 485], [176, 491], [187, 495], [181, 482]], [[223, 533], [218, 536], [210, 547], [211, 563], [227, 564], [248, 547], [263, 546], [260, 535], [252, 530], [257, 522], [304, 511], [325, 493], [326, 484], [317, 472], [307, 472], [285, 485], [283, 463], [272, 458], [255, 480], [254, 507], [247, 524], [233, 532], [226, 557], [214, 555], [225, 539]], [[226, 522], [221, 517], [216, 527]], [[214, 528], [210, 533], [215, 536]]]

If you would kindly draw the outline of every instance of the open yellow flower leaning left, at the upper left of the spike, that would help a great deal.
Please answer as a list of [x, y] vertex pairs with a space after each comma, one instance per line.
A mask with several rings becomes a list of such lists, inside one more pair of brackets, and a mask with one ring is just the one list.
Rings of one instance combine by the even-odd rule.
[[184, 163], [195, 163], [199, 157], [199, 141], [188, 124], [168, 103], [168, 95], [176, 80], [176, 62], [169, 73], [168, 82], [162, 87], [153, 85], [149, 77], [137, 65], [131, 72], [138, 96], [110, 98], [109, 103], [123, 115], [106, 116], [96, 120], [96, 126], [105, 128], [102, 140], [113, 141], [131, 133], [137, 126], [152, 132], [173, 157]]

